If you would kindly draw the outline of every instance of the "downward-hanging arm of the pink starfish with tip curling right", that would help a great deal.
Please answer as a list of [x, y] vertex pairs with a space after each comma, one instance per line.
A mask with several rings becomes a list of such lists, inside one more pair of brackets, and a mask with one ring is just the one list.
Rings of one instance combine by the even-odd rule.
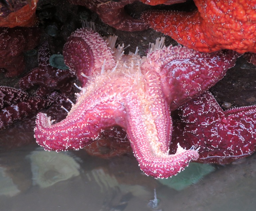
[[[176, 154], [169, 155], [172, 122], [168, 106], [162, 107], [159, 104], [150, 115], [149, 110], [140, 105], [136, 96], [129, 97], [129, 106], [126, 107], [127, 135], [141, 170], [156, 178], [178, 174], [191, 160], [197, 160], [197, 151], [179, 147]], [[161, 124], [163, 121], [165, 124]]]

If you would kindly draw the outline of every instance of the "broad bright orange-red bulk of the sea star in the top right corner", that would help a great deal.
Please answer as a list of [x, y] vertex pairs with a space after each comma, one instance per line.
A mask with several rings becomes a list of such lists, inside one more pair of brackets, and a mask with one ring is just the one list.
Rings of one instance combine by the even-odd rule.
[[[206, 35], [204, 41], [209, 45], [209, 48], [202, 52], [219, 49], [232, 49], [239, 53], [256, 52], [255, 0], [195, 0], [194, 3], [201, 18], [201, 25], [198, 27]], [[214, 45], [211, 42], [214, 42]]]

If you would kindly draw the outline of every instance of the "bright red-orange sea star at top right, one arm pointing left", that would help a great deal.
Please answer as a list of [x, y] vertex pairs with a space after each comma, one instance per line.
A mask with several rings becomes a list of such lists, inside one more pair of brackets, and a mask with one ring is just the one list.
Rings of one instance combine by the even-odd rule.
[[256, 52], [256, 0], [194, 0], [193, 12], [147, 11], [141, 19], [156, 31], [200, 52]]

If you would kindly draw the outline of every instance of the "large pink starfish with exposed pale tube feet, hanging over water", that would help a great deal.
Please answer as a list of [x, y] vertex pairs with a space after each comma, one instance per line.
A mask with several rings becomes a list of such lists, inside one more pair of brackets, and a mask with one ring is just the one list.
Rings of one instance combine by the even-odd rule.
[[[169, 155], [170, 111], [203, 93], [235, 63], [238, 53], [199, 53], [182, 46], [152, 45], [146, 57], [123, 55], [116, 37], [104, 41], [92, 30], [79, 29], [64, 46], [64, 59], [82, 84], [66, 119], [52, 124], [44, 113], [36, 120], [35, 137], [46, 150], [80, 149], [119, 125], [127, 132], [145, 174], [176, 175], [196, 150], [178, 147]], [[107, 43], [108, 45], [107, 45]], [[170, 109], [171, 106], [171, 109]]]

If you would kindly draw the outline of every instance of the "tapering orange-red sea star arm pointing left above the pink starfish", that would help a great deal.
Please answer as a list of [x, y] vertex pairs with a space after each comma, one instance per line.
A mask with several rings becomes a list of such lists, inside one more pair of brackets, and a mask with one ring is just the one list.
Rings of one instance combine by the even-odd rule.
[[209, 44], [204, 41], [207, 36], [200, 27], [202, 18], [198, 11], [188, 13], [150, 10], [144, 12], [141, 19], [148, 23], [150, 28], [171, 36], [177, 42], [189, 48], [208, 52], [209, 45], [216, 45], [211, 40], [209, 40]]

